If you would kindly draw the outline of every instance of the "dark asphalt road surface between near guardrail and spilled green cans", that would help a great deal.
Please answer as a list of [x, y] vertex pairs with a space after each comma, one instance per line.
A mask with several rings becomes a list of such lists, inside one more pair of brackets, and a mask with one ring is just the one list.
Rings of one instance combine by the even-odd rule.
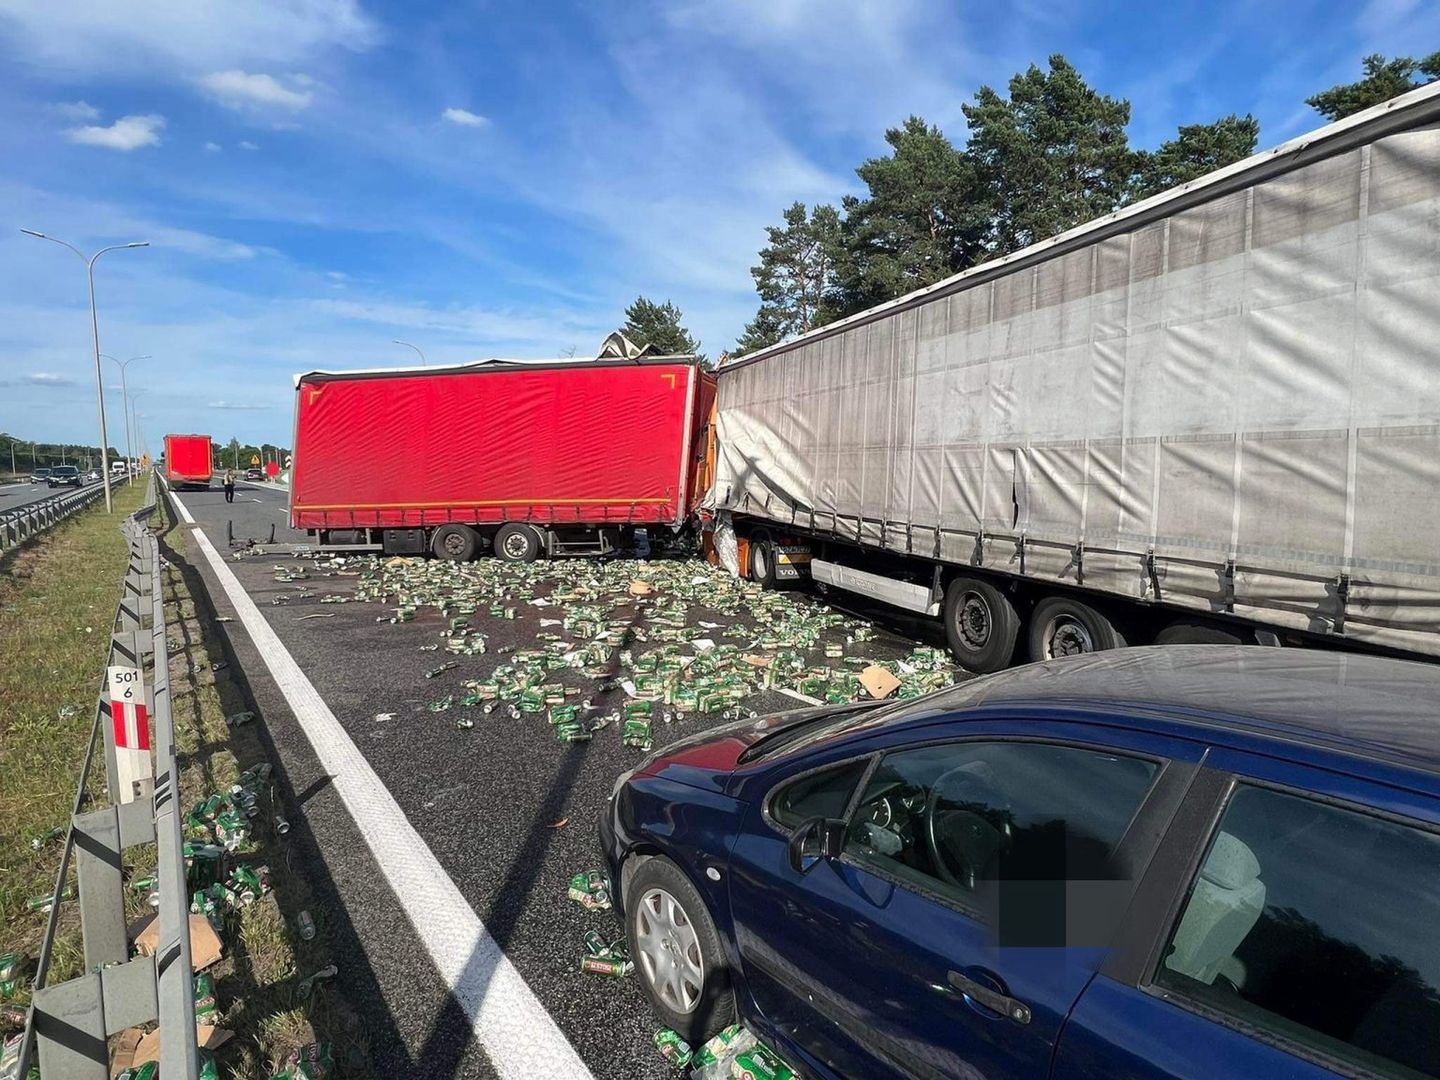
[[[276, 544], [307, 540], [285, 524], [285, 492], [265, 485], [238, 485], [233, 504], [225, 503], [217, 487], [180, 498], [222, 554], [230, 534], [236, 541], [264, 543], [272, 526]], [[186, 531], [176, 530], [171, 543], [204, 579], [215, 612], [230, 615], [194, 541], [181, 539]], [[657, 1024], [635, 978], [609, 981], [576, 971], [583, 933], [595, 927], [618, 936], [618, 923], [566, 899], [570, 876], [598, 865], [596, 818], [615, 778], [641, 752], [624, 747], [615, 732], [600, 732], [590, 743], [562, 744], [533, 716], [510, 719], [497, 708], [475, 714], [474, 729], [465, 730], [456, 727], [455, 713], [428, 708], [459, 691], [465, 678], [487, 677], [504, 660], [495, 655], [500, 648], [543, 644], [534, 636], [539, 619], [554, 609], [520, 605], [514, 621], [478, 618], [490, 635], [490, 652], [461, 657], [459, 667], [428, 680], [426, 670], [451, 658], [422, 651], [439, 641], [446, 625], [435, 611], [422, 609], [415, 622], [390, 624], [377, 621], [392, 611], [379, 603], [321, 603], [325, 593], [353, 595], [357, 579], [310, 570], [305, 580], [278, 582], [276, 566], [311, 566], [278, 550], [230, 557], [228, 566], [590, 1071], [616, 1079], [672, 1077], [654, 1048]], [[693, 611], [693, 618], [704, 612]], [[216, 629], [228, 638], [274, 743], [294, 852], [307, 860], [327, 900], [324, 929], [336, 937], [341, 978], [370, 1031], [376, 1073], [494, 1076], [356, 822], [328, 789], [249, 635], [239, 622]], [[897, 657], [910, 647], [903, 636], [881, 631], [865, 648], [868, 655]], [[556, 681], [586, 687], [586, 696], [602, 707], [618, 707], [624, 697], [616, 690], [613, 701], [599, 698], [577, 671]], [[793, 704], [768, 697], [775, 698], [770, 708]], [[393, 719], [377, 720], [382, 713]], [[713, 723], [720, 717], [657, 723], [655, 743]]]

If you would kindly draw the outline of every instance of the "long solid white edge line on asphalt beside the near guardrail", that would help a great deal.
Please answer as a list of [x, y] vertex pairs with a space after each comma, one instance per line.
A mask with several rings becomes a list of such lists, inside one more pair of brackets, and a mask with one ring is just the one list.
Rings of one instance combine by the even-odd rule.
[[[184, 504], [171, 498], [193, 523]], [[590, 1077], [209, 537], [200, 528], [193, 536], [495, 1071], [505, 1080]]]

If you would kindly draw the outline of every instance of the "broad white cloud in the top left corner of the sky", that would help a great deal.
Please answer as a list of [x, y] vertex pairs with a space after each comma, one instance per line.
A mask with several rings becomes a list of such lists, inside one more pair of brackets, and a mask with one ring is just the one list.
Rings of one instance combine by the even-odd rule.
[[194, 75], [360, 52], [380, 29], [359, 0], [0, 0], [0, 37], [36, 71]]

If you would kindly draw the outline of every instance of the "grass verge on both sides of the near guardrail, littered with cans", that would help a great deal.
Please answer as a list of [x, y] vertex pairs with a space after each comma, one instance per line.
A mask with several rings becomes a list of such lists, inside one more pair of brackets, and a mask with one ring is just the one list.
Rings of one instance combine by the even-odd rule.
[[[45, 930], [45, 914], [26, 900], [45, 896], [59, 865], [59, 840], [75, 798], [75, 782], [94, 724], [95, 694], [109, 647], [120, 599], [127, 546], [120, 521], [144, 497], [144, 484], [118, 492], [115, 514], [89, 508], [56, 526], [0, 564], [0, 952], [33, 958]], [[153, 518], [166, 528], [166, 507]], [[184, 541], [171, 533], [170, 539]], [[181, 805], [193, 806], [212, 792], [225, 793], [242, 769], [265, 760], [255, 727], [230, 729], [226, 717], [253, 708], [243, 684], [206, 645], [209, 615], [197, 611], [181, 570], [163, 566], [171, 710], [180, 756]], [[104, 791], [104, 759], [96, 750], [92, 788]], [[331, 960], [327, 917], [311, 903], [304, 876], [291, 865], [285, 840], [274, 827], [282, 812], [275, 792], [258, 804], [255, 842], [232, 863], [265, 864], [272, 891], [225, 916], [225, 958], [207, 973], [215, 984], [215, 1022], [235, 1032], [217, 1054], [222, 1076], [265, 1080], [285, 1057], [307, 1043], [330, 1041], [337, 1073], [369, 1077], [364, 1031], [343, 994], [324, 976]], [[39, 847], [32, 840], [40, 840]], [[124, 858], [127, 881], [154, 874], [153, 844], [131, 848]], [[73, 871], [71, 874], [73, 884]], [[127, 888], [127, 919], [134, 924], [153, 909], [148, 890]], [[314, 937], [297, 926], [310, 910]], [[73, 901], [60, 909], [50, 982], [82, 969], [79, 916]], [[24, 981], [29, 986], [29, 978]], [[13, 1004], [27, 1001], [27, 989]], [[0, 1030], [16, 1027], [19, 1014], [0, 1015]]]

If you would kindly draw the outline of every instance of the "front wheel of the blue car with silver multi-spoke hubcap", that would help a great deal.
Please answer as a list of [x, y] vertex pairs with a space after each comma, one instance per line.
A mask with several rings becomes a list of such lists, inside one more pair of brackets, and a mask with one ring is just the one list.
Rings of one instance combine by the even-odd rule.
[[635, 973], [662, 1024], [698, 1047], [734, 1022], [720, 935], [700, 893], [668, 858], [649, 858], [631, 877], [625, 930]]

